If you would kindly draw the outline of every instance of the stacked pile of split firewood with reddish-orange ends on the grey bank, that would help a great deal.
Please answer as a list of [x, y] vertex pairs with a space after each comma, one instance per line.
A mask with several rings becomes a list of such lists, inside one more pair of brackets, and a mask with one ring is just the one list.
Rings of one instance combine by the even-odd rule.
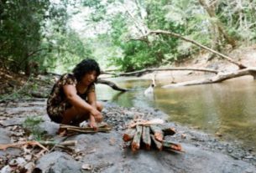
[[123, 134], [123, 141], [129, 142], [133, 151], [140, 148], [150, 150], [153, 147], [158, 150], [183, 151], [180, 144], [165, 140], [165, 135], [175, 135], [174, 128], [161, 128], [152, 122], [143, 120], [129, 125]]

